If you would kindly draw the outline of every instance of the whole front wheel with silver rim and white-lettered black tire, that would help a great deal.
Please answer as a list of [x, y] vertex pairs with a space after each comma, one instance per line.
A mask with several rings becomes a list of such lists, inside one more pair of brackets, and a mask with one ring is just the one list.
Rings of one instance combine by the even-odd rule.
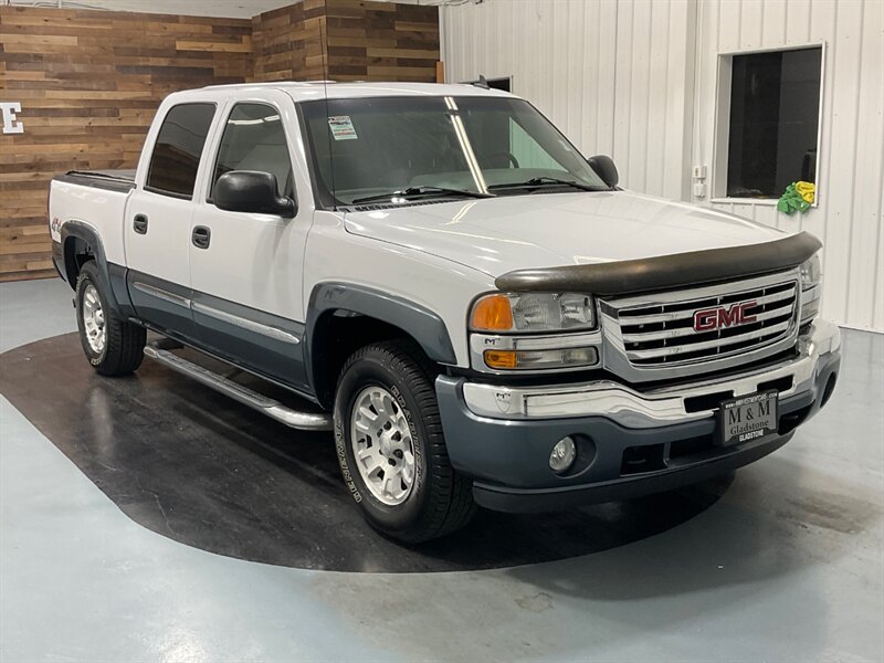
[[409, 341], [385, 341], [346, 362], [335, 397], [344, 481], [375, 528], [407, 543], [436, 538], [472, 517], [471, 482], [449, 462], [434, 370]]

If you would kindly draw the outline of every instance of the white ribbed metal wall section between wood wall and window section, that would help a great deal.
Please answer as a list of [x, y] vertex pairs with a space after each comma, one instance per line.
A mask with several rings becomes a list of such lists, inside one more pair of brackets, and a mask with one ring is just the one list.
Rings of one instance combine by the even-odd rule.
[[450, 82], [513, 76], [586, 155], [622, 182], [687, 196], [693, 0], [486, 0], [443, 6]]

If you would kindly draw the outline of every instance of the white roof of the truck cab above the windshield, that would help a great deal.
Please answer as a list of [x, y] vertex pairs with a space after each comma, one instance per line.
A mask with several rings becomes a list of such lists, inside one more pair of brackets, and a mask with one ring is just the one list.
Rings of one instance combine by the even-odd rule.
[[235, 91], [248, 94], [250, 91], [282, 90], [296, 102], [370, 97], [370, 96], [507, 96], [514, 95], [499, 90], [488, 90], [469, 83], [336, 83], [335, 81], [275, 81], [270, 83], [239, 83], [234, 85], [210, 85], [202, 90]]

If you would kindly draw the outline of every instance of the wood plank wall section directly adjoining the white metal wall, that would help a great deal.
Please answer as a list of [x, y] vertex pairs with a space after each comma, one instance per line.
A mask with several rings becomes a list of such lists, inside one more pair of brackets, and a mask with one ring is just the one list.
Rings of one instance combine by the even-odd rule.
[[327, 0], [333, 81], [434, 83], [439, 8], [366, 0]]

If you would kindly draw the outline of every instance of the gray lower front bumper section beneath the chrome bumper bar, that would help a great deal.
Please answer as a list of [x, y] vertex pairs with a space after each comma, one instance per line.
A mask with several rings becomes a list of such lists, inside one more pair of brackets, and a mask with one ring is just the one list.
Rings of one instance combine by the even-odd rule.
[[[475, 480], [480, 503], [502, 511], [555, 511], [666, 490], [761, 457], [824, 404], [840, 361], [836, 351], [824, 356], [808, 388], [779, 401], [778, 435], [730, 446], [718, 442], [717, 417], [655, 428], [628, 428], [601, 413], [492, 419], [466, 406], [463, 378], [441, 376], [435, 387], [449, 457]], [[578, 453], [573, 470], [559, 475], [550, 470], [549, 455], [565, 436], [577, 442]]]

